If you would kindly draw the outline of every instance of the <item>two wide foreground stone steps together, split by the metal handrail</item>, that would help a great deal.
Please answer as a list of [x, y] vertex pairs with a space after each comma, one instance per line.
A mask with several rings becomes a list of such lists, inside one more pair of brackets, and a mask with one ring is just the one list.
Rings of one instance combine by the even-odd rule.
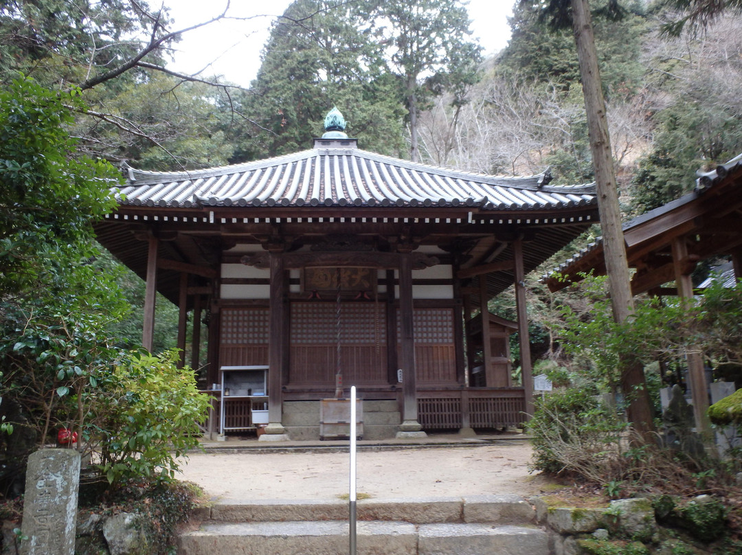
[[[533, 508], [515, 495], [361, 499], [358, 554], [549, 555]], [[347, 554], [348, 503], [244, 502], [204, 508], [179, 555]]]

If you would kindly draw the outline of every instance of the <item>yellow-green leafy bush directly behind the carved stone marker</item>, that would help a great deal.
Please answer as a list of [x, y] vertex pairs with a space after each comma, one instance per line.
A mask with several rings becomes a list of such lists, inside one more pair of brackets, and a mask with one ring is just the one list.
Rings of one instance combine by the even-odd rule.
[[131, 353], [114, 370], [99, 408], [105, 427], [96, 425], [85, 435], [97, 444], [96, 467], [108, 482], [172, 478], [176, 459], [198, 447], [209, 397], [197, 390], [193, 370], [177, 368], [177, 356], [175, 350]]

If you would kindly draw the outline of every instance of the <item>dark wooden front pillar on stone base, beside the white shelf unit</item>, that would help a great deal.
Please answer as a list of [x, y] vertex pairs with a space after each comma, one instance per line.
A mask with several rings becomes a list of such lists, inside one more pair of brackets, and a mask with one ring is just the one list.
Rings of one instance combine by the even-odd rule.
[[[283, 327], [284, 312], [283, 294], [286, 272], [283, 269], [283, 257], [280, 253], [270, 253], [270, 312], [269, 312], [269, 346], [268, 346], [268, 422], [266, 434], [260, 436], [283, 435], [286, 431], [281, 424], [283, 418]], [[288, 438], [286, 438], [288, 439]], [[267, 440], [266, 440], [267, 441]]]

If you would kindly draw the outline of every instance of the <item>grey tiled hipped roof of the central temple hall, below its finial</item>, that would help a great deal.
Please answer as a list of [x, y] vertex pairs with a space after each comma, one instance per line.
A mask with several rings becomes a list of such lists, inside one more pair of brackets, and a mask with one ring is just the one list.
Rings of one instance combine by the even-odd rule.
[[282, 157], [196, 171], [124, 166], [130, 206], [477, 206], [485, 210], [594, 205], [594, 185], [548, 185], [548, 173], [495, 177], [418, 164], [317, 139]]

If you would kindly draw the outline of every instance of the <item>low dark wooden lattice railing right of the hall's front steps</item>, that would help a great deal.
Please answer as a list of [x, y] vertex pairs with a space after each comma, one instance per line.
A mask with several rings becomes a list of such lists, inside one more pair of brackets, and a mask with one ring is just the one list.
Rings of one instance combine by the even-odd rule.
[[418, 390], [417, 397], [424, 430], [516, 426], [527, 419], [520, 387]]

